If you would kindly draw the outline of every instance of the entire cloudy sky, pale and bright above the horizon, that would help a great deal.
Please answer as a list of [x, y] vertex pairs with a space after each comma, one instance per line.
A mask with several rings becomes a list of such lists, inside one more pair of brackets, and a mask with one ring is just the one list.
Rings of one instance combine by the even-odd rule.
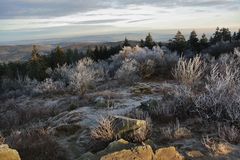
[[217, 26], [240, 28], [240, 0], [0, 0], [0, 43]]

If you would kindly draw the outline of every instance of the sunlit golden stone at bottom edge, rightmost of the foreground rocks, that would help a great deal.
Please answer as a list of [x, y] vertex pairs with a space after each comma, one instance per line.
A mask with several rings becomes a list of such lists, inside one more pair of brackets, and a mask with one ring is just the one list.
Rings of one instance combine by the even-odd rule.
[[155, 152], [156, 160], [184, 160], [175, 147], [160, 148]]

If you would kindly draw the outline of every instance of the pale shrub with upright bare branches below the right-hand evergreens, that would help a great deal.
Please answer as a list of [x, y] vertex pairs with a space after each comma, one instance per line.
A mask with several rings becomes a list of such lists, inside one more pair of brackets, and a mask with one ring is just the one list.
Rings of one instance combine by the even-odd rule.
[[180, 58], [172, 74], [181, 83], [191, 86], [202, 79], [204, 70], [203, 60], [200, 56], [196, 56], [189, 61]]

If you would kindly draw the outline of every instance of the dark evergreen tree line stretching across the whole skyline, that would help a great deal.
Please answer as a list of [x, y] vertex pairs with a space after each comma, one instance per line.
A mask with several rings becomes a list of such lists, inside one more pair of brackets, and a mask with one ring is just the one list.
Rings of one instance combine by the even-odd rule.
[[[205, 34], [199, 39], [197, 33], [193, 30], [190, 33], [189, 39], [186, 40], [184, 35], [178, 31], [174, 38], [165, 44], [162, 42], [155, 42], [150, 33], [146, 36], [145, 40], [142, 39], [137, 44], [140, 47], [148, 47], [149, 49], [152, 49], [155, 45], [165, 45], [170, 51], [176, 51], [179, 55], [183, 55], [186, 50], [190, 50], [194, 54], [199, 54], [220, 42], [228, 43], [228, 46], [230, 46], [228, 48], [233, 49], [236, 45], [230, 44], [237, 44], [240, 46], [239, 41], [240, 29], [238, 32], [231, 34], [231, 31], [228, 28], [220, 29], [217, 27], [210, 39], [208, 39]], [[31, 79], [42, 81], [48, 77], [46, 73], [48, 68], [54, 69], [64, 64], [71, 65], [78, 62], [83, 57], [90, 57], [94, 61], [105, 60], [112, 55], [119, 53], [123, 47], [127, 46], [131, 47], [131, 43], [125, 38], [120, 45], [110, 47], [99, 45], [95, 46], [95, 48], [89, 47], [86, 53], [79, 52], [78, 49], [64, 50], [60, 46], [57, 46], [49, 55], [40, 55], [37, 47], [34, 45], [31, 58], [28, 61], [1, 63], [0, 78], [24, 79], [28, 76]], [[220, 53], [222, 50], [218, 52]]]

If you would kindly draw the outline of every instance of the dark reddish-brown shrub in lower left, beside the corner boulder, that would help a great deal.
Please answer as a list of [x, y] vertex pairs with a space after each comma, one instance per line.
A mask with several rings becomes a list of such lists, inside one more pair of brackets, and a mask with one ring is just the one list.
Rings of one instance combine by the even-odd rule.
[[46, 129], [35, 128], [14, 131], [7, 139], [24, 160], [66, 160], [63, 148]]

